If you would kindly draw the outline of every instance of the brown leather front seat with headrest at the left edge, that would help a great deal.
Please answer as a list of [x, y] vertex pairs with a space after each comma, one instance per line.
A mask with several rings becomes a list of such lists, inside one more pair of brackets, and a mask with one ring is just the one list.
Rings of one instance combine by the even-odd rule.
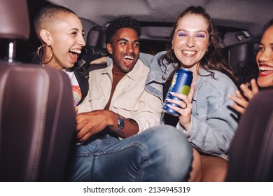
[[[0, 3], [0, 38], [28, 38], [27, 1]], [[0, 59], [0, 181], [63, 181], [74, 130], [66, 73]]]

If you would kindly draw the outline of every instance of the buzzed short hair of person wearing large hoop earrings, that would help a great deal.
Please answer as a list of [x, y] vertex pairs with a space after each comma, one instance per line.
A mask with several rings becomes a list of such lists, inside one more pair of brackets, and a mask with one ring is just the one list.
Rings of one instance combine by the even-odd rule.
[[57, 20], [59, 15], [70, 13], [76, 15], [76, 13], [74, 13], [72, 10], [70, 10], [69, 8], [65, 8], [63, 6], [50, 5], [41, 8], [41, 10], [36, 14], [34, 18], [34, 29], [38, 38], [40, 37], [39, 33], [41, 29], [43, 29], [46, 24], [50, 24]]

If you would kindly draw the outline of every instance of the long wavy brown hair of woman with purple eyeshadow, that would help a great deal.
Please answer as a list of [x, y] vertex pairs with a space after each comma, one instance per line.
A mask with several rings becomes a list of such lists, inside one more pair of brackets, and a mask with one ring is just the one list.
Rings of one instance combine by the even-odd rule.
[[[174, 22], [174, 27], [170, 34], [170, 40], [167, 43], [167, 53], [165, 55], [162, 55], [158, 59], [158, 63], [160, 64], [160, 66], [165, 66], [164, 70], [166, 70], [169, 64], [174, 64], [174, 67], [176, 69], [178, 69], [179, 65], [181, 65], [181, 62], [179, 62], [179, 59], [177, 59], [176, 55], [174, 54], [174, 50], [172, 50], [172, 40], [174, 39], [176, 28], [179, 25], [179, 20], [181, 20], [181, 18], [186, 15], [201, 15], [205, 20], [207, 20], [208, 24], [207, 30], [209, 32], [209, 46], [204, 57], [202, 57], [202, 59], [200, 60], [200, 64], [197, 66], [197, 74], [200, 75], [199, 66], [201, 66], [203, 69], [209, 71], [210, 74], [207, 76], [214, 77], [213, 70], [218, 70], [222, 73], [225, 73], [232, 80], [235, 81], [235, 76], [232, 73], [230, 66], [228, 66], [228, 63], [225, 61], [225, 57], [221, 52], [218, 30], [216, 29], [216, 27], [214, 27], [214, 24], [209, 14], [201, 6], [190, 6], [176, 18]], [[173, 74], [169, 78], [172, 78]]]

